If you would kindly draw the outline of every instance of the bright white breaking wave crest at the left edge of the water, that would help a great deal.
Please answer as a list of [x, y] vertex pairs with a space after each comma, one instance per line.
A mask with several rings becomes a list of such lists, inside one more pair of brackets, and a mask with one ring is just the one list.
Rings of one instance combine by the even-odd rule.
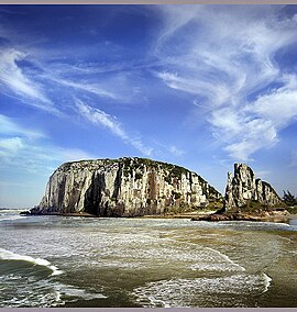
[[19, 255], [10, 250], [6, 250], [0, 248], [0, 259], [2, 260], [20, 260], [20, 261], [28, 261], [35, 264], [37, 266], [43, 266], [47, 267], [48, 269], [52, 270], [52, 276], [61, 275], [63, 274], [62, 270], [59, 270], [56, 266], [53, 266], [50, 261], [46, 259], [42, 258], [33, 258], [31, 256], [25, 256], [25, 255]]

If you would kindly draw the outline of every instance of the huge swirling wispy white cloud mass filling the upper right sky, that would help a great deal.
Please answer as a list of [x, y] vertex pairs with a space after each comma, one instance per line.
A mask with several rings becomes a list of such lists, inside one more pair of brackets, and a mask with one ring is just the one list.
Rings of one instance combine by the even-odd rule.
[[296, 75], [276, 56], [297, 44], [297, 19], [282, 15], [282, 8], [158, 8], [165, 22], [154, 53], [164, 69], [155, 76], [193, 94], [215, 137], [238, 160], [274, 146], [296, 120]]

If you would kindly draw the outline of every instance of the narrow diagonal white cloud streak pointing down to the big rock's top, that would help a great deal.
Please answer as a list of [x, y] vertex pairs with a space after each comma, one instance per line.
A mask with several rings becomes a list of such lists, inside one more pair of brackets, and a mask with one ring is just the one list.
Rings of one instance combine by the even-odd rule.
[[123, 142], [131, 144], [142, 154], [146, 156], [152, 155], [153, 148], [145, 146], [140, 138], [129, 135], [122, 127], [121, 123], [117, 120], [117, 118], [107, 114], [106, 112], [99, 109], [95, 109], [88, 104], [85, 104], [78, 99], [76, 99], [75, 103], [78, 112], [88, 121], [96, 125], [101, 125], [110, 130], [114, 135], [123, 140]]

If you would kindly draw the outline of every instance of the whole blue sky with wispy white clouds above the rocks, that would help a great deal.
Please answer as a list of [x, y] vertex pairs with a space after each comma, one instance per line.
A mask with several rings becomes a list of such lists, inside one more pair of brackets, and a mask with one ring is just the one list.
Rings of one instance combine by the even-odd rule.
[[0, 207], [119, 157], [297, 196], [296, 51], [296, 5], [0, 5]]

